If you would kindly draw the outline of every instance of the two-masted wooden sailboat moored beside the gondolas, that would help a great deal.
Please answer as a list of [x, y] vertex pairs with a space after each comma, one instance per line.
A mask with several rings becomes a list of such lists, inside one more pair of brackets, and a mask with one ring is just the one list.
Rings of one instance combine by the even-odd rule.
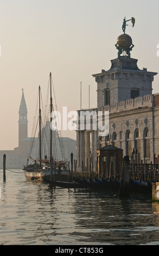
[[[50, 117], [53, 110], [52, 104], [52, 79], [50, 72]], [[39, 159], [34, 160], [32, 156], [29, 156], [27, 159], [26, 166], [23, 167], [23, 171], [25, 174], [25, 178], [27, 180], [39, 180], [43, 181], [44, 176], [50, 179], [55, 179], [56, 175], [60, 173], [60, 177], [62, 179], [68, 178], [68, 168], [67, 161], [65, 159], [61, 161], [53, 160], [52, 156], [52, 130], [50, 128], [50, 157], [47, 159], [45, 155], [44, 159], [42, 159], [41, 153], [41, 101], [40, 101], [40, 86], [39, 86]], [[50, 118], [50, 123], [52, 121], [52, 117]], [[59, 136], [59, 135], [58, 135]], [[61, 145], [61, 144], [60, 144]], [[64, 152], [64, 151], [63, 151]], [[63, 155], [64, 156], [64, 155]], [[33, 164], [28, 164], [29, 159], [33, 161]]]

